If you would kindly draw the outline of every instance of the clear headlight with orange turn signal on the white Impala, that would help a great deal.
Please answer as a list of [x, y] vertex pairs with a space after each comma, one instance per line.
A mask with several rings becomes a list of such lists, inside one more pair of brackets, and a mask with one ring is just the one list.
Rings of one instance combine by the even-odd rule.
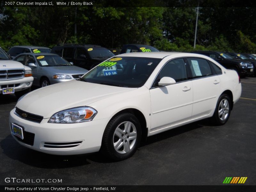
[[48, 123], [80, 123], [91, 121], [97, 111], [91, 107], [77, 107], [55, 113]]

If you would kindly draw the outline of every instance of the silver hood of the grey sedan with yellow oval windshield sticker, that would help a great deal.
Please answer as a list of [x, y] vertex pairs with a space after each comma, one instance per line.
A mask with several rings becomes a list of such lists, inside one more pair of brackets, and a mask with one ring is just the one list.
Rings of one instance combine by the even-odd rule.
[[85, 74], [88, 70], [76, 67], [76, 66], [54, 66], [54, 67], [47, 67], [51, 68], [51, 71], [54, 71], [56, 74], [62, 75], [76, 75], [76, 74]]

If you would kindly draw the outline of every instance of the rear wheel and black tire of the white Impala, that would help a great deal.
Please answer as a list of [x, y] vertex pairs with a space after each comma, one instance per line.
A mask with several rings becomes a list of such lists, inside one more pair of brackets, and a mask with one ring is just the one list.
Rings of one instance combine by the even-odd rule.
[[[221, 103], [223, 104], [225, 101], [228, 102], [228, 110], [227, 108], [223, 108]], [[219, 115], [219, 110], [225, 111], [224, 115], [222, 114], [221, 116]], [[220, 111], [221, 112], [221, 111]], [[231, 113], [231, 101], [230, 98], [227, 94], [222, 94], [220, 95], [220, 98], [218, 99], [215, 111], [213, 116], [211, 117], [211, 121], [214, 125], [224, 125], [227, 123], [228, 118]], [[224, 116], [224, 117], [223, 117]]]

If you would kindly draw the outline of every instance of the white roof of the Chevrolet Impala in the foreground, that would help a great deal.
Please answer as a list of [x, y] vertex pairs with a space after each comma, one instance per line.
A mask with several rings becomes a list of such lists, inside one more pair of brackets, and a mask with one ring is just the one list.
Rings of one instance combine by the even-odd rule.
[[123, 53], [116, 55], [115, 57], [148, 57], [148, 58], [159, 58], [163, 59], [164, 57], [170, 55], [177, 55], [178, 57], [198, 57], [199, 54], [196, 53], [184, 53], [184, 52], [133, 52], [133, 53]]

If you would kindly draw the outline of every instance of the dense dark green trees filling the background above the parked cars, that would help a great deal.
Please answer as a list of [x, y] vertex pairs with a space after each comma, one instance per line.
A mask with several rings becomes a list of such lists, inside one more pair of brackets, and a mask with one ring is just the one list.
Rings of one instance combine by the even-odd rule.
[[[4, 7], [0, 46], [151, 44], [163, 51], [256, 52], [255, 7]], [[76, 25], [76, 34], [75, 34]]]

